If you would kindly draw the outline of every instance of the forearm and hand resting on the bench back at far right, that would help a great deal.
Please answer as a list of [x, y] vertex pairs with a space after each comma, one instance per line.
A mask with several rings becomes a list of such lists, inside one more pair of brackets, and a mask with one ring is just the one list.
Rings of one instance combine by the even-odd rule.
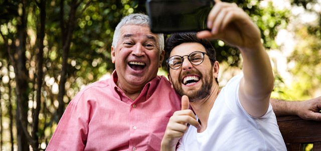
[[321, 96], [304, 101], [271, 98], [270, 103], [277, 117], [297, 115], [302, 119], [321, 121]]

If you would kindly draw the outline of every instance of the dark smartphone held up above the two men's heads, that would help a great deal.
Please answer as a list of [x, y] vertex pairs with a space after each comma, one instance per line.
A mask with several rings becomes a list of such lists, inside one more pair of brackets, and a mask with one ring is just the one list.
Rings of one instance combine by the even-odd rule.
[[147, 0], [150, 30], [164, 34], [207, 30], [207, 17], [214, 4], [214, 0]]

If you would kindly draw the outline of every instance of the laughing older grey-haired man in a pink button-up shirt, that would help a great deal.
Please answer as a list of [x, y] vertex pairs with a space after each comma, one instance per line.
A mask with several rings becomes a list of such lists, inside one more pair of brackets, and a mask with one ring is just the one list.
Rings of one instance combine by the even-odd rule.
[[121, 20], [111, 47], [110, 79], [82, 89], [69, 103], [47, 150], [159, 150], [180, 96], [157, 76], [164, 59], [163, 34], [153, 34], [148, 17]]

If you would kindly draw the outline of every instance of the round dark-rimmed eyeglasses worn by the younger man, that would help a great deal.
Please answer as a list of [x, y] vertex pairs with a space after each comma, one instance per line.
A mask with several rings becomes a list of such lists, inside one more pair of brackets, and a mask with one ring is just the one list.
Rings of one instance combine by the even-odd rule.
[[[193, 65], [199, 65], [204, 61], [204, 56], [207, 55], [206, 52], [200, 52], [200, 51], [195, 51], [192, 52], [189, 55], [184, 55], [184, 56], [172, 56], [168, 60], [166, 60], [166, 63], [170, 68], [172, 69], [179, 69], [183, 62], [184, 62], [184, 57], [187, 56], [187, 59], [193, 64]], [[209, 56], [211, 59], [211, 57]]]

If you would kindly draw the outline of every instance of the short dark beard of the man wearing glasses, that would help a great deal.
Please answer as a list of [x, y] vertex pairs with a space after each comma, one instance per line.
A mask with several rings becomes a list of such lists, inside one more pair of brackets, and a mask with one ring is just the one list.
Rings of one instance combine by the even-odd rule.
[[[182, 79], [181, 77], [179, 79]], [[211, 88], [213, 84], [213, 72], [209, 71], [206, 76], [203, 76], [202, 78], [202, 87], [199, 90], [193, 90], [194, 93], [187, 94], [184, 93], [184, 90], [182, 88], [182, 83], [177, 81], [176, 83], [173, 82], [173, 86], [175, 88], [175, 91], [180, 94], [181, 96], [187, 95], [189, 97], [190, 102], [196, 102], [198, 100], [201, 100], [211, 94]]]

